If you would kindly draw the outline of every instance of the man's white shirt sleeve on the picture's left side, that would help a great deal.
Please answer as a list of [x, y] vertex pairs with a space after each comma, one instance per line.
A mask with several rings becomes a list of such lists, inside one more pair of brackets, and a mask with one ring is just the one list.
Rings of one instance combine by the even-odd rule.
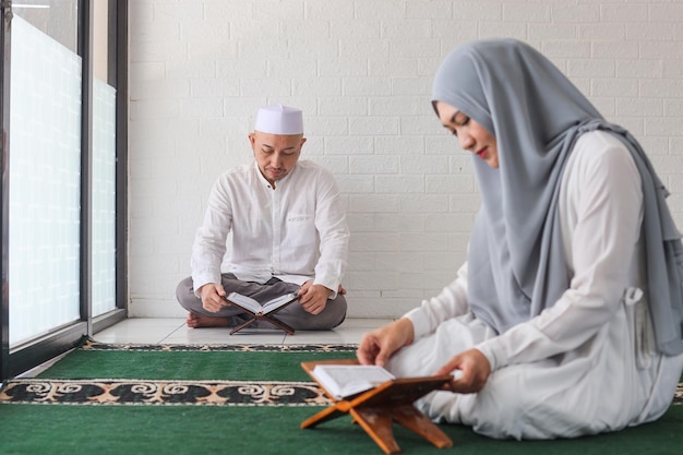
[[190, 265], [194, 294], [207, 283], [220, 283], [220, 264], [226, 253], [226, 240], [232, 226], [232, 209], [226, 177], [219, 178], [211, 190], [204, 221], [196, 230]]

